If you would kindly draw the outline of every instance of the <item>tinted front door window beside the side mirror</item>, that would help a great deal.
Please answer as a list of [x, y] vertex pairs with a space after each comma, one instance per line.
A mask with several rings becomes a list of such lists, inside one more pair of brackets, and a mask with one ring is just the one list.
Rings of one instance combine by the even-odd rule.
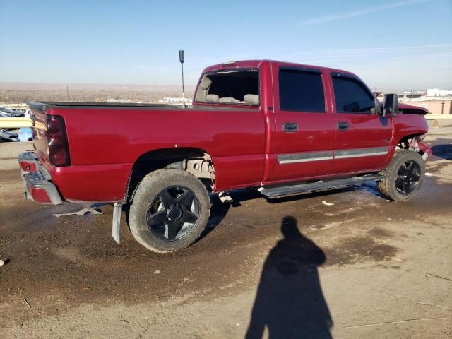
[[374, 107], [374, 97], [359, 81], [333, 76], [333, 87], [337, 112], [370, 113]]

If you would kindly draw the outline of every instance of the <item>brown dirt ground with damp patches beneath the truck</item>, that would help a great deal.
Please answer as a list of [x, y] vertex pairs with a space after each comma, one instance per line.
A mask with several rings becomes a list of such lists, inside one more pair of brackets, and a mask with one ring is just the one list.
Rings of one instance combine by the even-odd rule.
[[[83, 206], [23, 200], [0, 143], [0, 338], [451, 338], [452, 126], [432, 127], [420, 194], [374, 184], [215, 201], [203, 237], [154, 254]], [[333, 203], [327, 206], [322, 202]]]

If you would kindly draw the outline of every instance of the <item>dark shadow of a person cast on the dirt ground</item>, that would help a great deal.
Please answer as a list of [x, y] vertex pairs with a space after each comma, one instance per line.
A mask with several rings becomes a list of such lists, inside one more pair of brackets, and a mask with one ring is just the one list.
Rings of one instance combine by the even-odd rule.
[[323, 251], [304, 237], [291, 216], [283, 218], [284, 239], [271, 249], [251, 312], [246, 339], [332, 338], [333, 325], [319, 282]]

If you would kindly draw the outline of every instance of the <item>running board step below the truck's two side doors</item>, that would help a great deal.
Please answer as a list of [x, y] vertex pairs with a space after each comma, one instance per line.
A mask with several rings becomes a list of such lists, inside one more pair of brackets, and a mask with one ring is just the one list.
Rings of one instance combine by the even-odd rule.
[[267, 198], [273, 199], [279, 198], [280, 196], [289, 196], [292, 194], [299, 194], [309, 191], [321, 191], [323, 189], [337, 189], [343, 186], [357, 185], [362, 184], [363, 182], [374, 182], [379, 181], [381, 179], [383, 179], [383, 175], [381, 174], [367, 174], [363, 175], [362, 177], [334, 179], [328, 180], [326, 182], [319, 181], [312, 182], [309, 184], [271, 187], [268, 189], [261, 187], [260, 189], [258, 189], [258, 191], [260, 191], [261, 194], [263, 194]]

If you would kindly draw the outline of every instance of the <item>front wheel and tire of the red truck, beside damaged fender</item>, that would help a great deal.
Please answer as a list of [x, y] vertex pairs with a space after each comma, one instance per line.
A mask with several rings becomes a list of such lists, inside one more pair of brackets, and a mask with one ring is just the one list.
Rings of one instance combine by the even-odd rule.
[[417, 194], [425, 176], [425, 164], [414, 150], [396, 150], [378, 183], [383, 196], [393, 201], [408, 200]]

